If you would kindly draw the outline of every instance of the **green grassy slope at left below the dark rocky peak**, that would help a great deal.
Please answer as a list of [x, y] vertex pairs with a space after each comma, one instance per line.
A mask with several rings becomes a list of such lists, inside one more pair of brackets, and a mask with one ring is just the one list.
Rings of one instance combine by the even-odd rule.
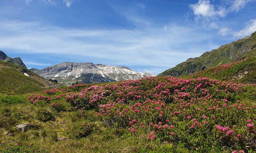
[[[30, 75], [26, 76], [24, 73]], [[40, 86], [55, 85], [37, 74], [13, 63], [0, 60], [0, 94], [23, 94], [44, 90]]]

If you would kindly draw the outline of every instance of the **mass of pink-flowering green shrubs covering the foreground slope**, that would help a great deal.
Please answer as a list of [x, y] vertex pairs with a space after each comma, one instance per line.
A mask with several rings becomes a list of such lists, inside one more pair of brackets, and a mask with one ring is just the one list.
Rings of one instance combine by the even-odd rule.
[[[63, 97], [85, 117], [86, 111], [91, 110], [90, 115], [105, 125], [125, 128], [148, 141], [182, 143], [202, 152], [223, 146], [233, 150], [246, 150], [245, 146], [249, 146], [253, 150], [256, 109], [242, 103], [244, 95], [250, 95], [248, 86], [168, 76], [80, 87], [76, 92], [52, 97]], [[93, 129], [93, 125], [84, 124], [74, 133], [85, 137]]]

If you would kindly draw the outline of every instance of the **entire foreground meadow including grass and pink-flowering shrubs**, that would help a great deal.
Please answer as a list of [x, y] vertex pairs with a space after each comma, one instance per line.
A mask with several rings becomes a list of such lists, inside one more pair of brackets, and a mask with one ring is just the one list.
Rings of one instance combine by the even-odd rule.
[[255, 152], [255, 97], [255, 85], [169, 76], [4, 96], [0, 152]]

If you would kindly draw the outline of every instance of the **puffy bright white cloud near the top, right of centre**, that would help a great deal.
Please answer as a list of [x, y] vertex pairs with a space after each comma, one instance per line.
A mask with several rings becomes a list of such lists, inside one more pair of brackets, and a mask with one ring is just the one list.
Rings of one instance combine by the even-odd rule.
[[218, 9], [215, 9], [214, 5], [210, 4], [210, 1], [208, 0], [199, 0], [197, 4], [190, 4], [189, 6], [197, 17], [208, 18], [226, 16], [225, 8], [219, 7]]

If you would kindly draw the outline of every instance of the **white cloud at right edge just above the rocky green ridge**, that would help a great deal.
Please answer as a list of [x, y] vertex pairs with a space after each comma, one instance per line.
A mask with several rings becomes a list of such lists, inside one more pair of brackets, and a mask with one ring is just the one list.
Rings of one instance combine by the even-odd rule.
[[256, 19], [250, 20], [250, 22], [242, 30], [234, 32], [234, 37], [241, 37], [251, 35], [256, 31]]

